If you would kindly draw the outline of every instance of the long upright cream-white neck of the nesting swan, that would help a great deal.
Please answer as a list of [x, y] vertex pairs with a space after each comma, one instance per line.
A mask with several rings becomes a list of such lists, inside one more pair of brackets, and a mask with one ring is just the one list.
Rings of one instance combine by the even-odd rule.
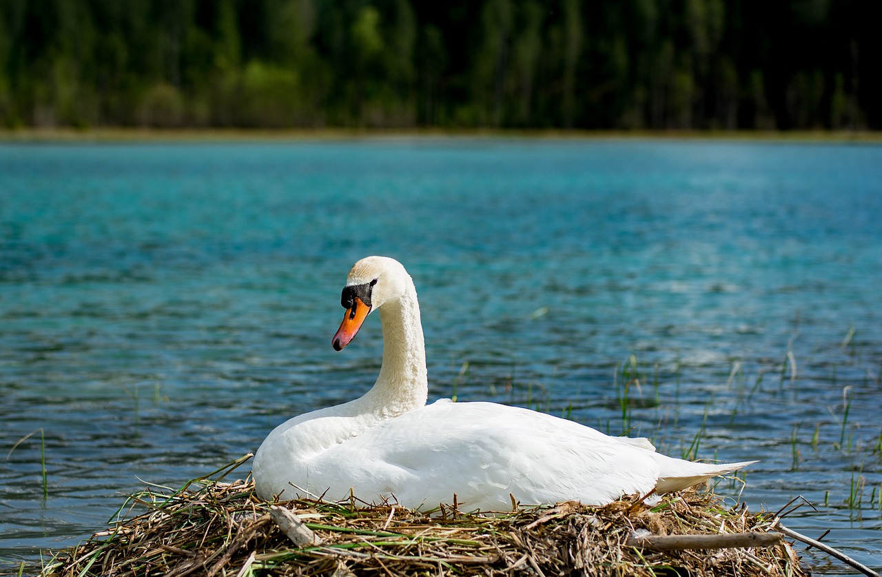
[[399, 416], [426, 404], [429, 382], [416, 289], [407, 279], [407, 290], [397, 301], [379, 308], [383, 325], [383, 367], [377, 383], [364, 395], [371, 412], [385, 418]]

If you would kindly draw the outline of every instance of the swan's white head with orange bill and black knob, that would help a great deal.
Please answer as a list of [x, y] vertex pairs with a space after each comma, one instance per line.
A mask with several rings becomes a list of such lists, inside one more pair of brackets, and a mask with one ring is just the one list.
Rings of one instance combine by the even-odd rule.
[[333, 335], [333, 348], [343, 350], [355, 338], [370, 311], [398, 299], [407, 289], [409, 279], [404, 266], [395, 259], [366, 257], [356, 262], [340, 296], [346, 315]]

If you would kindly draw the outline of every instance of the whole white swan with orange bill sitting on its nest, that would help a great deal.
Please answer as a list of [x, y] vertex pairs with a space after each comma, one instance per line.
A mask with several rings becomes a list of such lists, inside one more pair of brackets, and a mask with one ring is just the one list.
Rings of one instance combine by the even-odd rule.
[[[383, 364], [361, 398], [276, 427], [255, 454], [258, 497], [389, 499], [418, 509], [510, 511], [579, 500], [680, 491], [756, 461], [706, 464], [655, 453], [646, 438], [609, 437], [579, 423], [491, 402], [426, 404], [428, 379], [416, 289], [404, 266], [361, 259], [348, 274], [332, 344], [342, 350], [379, 311]], [[456, 497], [454, 498], [454, 494]]]

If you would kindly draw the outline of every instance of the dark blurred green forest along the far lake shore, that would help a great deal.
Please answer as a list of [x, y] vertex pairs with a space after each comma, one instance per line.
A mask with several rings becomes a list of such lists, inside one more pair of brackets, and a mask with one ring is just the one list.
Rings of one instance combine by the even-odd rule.
[[872, 0], [0, 0], [0, 127], [882, 128]]

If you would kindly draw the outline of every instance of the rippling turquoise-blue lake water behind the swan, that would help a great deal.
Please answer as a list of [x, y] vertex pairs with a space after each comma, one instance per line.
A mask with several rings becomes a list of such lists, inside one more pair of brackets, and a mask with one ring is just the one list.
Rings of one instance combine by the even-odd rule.
[[370, 254], [430, 399], [759, 459], [744, 501], [882, 566], [882, 146], [580, 139], [0, 144], [0, 566], [363, 393]]

